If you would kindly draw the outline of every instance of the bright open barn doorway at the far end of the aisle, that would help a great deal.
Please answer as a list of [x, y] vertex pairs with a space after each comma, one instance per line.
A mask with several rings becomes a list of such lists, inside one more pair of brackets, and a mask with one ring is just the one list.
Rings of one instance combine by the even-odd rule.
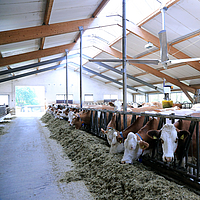
[[16, 114], [33, 114], [45, 112], [44, 86], [15, 87]]

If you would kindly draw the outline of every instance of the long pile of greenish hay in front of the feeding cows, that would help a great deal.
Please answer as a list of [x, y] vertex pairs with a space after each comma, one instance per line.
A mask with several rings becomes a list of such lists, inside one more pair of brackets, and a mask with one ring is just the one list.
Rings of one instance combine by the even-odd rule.
[[157, 175], [142, 163], [120, 164], [123, 154], [109, 154], [106, 141], [76, 130], [64, 120], [54, 119], [47, 113], [41, 120], [51, 131], [51, 138], [60, 142], [76, 166], [61, 181], [83, 180], [95, 199], [200, 199], [199, 195]]

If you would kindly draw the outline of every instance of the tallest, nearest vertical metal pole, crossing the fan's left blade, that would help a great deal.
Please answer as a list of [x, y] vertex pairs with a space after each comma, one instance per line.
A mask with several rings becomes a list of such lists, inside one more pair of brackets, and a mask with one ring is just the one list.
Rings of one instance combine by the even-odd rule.
[[[122, 53], [123, 53], [123, 111], [127, 111], [127, 75], [126, 75], [126, 0], [123, 0], [123, 40], [122, 40]], [[126, 128], [127, 120], [124, 115], [124, 128]]]

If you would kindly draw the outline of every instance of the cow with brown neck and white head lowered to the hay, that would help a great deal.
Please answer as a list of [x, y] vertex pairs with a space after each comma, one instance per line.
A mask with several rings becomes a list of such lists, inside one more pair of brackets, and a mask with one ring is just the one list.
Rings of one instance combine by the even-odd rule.
[[124, 155], [121, 160], [122, 164], [132, 164], [133, 160], [137, 160], [144, 150], [145, 153], [151, 152], [156, 145], [156, 140], [148, 136], [148, 131], [157, 130], [159, 119], [151, 118], [145, 126], [143, 126], [137, 133], [132, 133], [127, 136], [124, 142]]

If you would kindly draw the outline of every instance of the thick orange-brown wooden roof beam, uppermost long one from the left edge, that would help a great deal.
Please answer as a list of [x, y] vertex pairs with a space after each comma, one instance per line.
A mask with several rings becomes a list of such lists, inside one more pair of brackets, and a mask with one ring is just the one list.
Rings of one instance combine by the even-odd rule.
[[79, 31], [79, 26], [83, 26], [83, 29], [86, 30], [112, 25], [116, 25], [116, 22], [113, 19], [103, 20], [89, 18], [69, 22], [61, 22], [51, 25], [42, 25], [24, 29], [3, 31], [0, 32], [0, 45], [59, 35], [64, 33], [77, 32]]

